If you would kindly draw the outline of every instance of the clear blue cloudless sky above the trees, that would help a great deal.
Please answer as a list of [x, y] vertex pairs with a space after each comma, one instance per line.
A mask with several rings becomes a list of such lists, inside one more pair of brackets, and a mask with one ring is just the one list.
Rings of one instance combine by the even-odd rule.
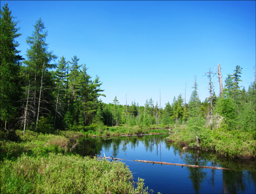
[[[188, 102], [197, 76], [200, 99], [209, 96], [204, 73], [222, 67], [223, 85], [236, 65], [239, 86], [254, 81], [255, 1], [1, 1], [20, 22], [25, 57], [37, 19], [48, 31], [49, 51], [79, 64], [103, 82], [104, 103], [146, 99], [161, 106], [179, 94]], [[57, 61], [56, 61], [57, 63]], [[217, 81], [217, 76], [213, 81]], [[215, 84], [219, 95], [219, 85]]]

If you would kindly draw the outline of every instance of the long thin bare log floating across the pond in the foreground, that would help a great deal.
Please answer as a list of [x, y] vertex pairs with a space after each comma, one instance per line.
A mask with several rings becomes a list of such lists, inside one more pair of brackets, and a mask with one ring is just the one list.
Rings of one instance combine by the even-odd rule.
[[[89, 157], [95, 157], [95, 156], [89, 156]], [[99, 157], [99, 156], [96, 156]], [[112, 160], [126, 160], [126, 159], [119, 159], [119, 158], [114, 158], [114, 157], [105, 157], [105, 153], [104, 153], [104, 157], [101, 158], [105, 158], [105, 159], [112, 159]], [[111, 162], [112, 162], [111, 160]], [[216, 166], [197, 166], [197, 165], [185, 165], [185, 164], [178, 164], [178, 163], [168, 163], [168, 162], [154, 162], [154, 161], [148, 161], [148, 160], [128, 160], [128, 161], [135, 161], [135, 162], [144, 162], [144, 163], [152, 163], [152, 164], [159, 164], [159, 165], [174, 165], [174, 166], [181, 166], [181, 168], [183, 168], [183, 166], [187, 166], [187, 167], [201, 167], [204, 169], [216, 169], [216, 170], [231, 170], [231, 169], [226, 169], [224, 167], [216, 167]]]

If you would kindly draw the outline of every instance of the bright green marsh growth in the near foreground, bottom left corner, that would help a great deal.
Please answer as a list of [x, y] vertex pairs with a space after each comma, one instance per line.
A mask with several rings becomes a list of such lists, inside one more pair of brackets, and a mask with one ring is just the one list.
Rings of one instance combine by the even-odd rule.
[[1, 162], [1, 193], [148, 193], [143, 179], [132, 182], [129, 168], [78, 155], [30, 157]]

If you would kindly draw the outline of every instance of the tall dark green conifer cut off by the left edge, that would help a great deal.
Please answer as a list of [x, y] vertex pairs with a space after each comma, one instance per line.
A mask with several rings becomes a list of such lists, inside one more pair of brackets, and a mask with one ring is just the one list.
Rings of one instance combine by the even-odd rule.
[[0, 120], [4, 129], [14, 124], [13, 121], [17, 114], [17, 101], [20, 96], [18, 88], [18, 73], [20, 61], [23, 58], [18, 54], [18, 42], [15, 38], [20, 37], [17, 28], [18, 22], [9, 11], [8, 4], [2, 6], [0, 18]]

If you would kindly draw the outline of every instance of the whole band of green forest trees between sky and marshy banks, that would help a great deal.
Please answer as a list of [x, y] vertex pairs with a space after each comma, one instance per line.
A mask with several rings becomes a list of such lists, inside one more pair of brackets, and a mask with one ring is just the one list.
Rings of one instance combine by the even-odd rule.
[[[195, 123], [195, 127], [226, 127], [226, 129], [255, 130], [256, 81], [248, 90], [239, 86], [242, 68], [236, 65], [228, 75], [225, 87], [216, 96], [212, 71], [209, 77], [209, 98], [199, 99], [195, 78], [190, 100], [180, 94], [172, 103], [159, 106], [152, 98], [143, 106], [135, 101], [120, 105], [104, 104], [100, 96], [102, 82], [87, 73], [87, 66], [73, 56], [67, 60], [48, 50], [47, 31], [41, 18], [27, 37], [26, 60], [17, 51], [17, 22], [14, 22], [8, 5], [1, 9], [1, 130], [30, 129], [43, 133], [53, 130], [82, 130], [87, 126], [150, 126], [151, 124]], [[191, 84], [192, 85], [192, 84]], [[223, 124], [224, 123], [224, 124]], [[193, 125], [191, 125], [193, 126]]]

